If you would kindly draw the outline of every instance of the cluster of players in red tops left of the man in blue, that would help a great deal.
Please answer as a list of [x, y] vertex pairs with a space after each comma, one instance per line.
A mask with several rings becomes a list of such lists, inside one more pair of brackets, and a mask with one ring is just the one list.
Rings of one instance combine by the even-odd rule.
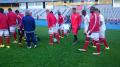
[[[12, 12], [12, 9], [8, 9], [8, 13], [5, 13], [3, 8], [0, 8], [0, 48], [7, 47], [10, 48], [10, 34], [13, 36], [13, 43], [17, 43], [17, 33], [16, 33], [16, 25], [18, 21], [18, 30], [19, 34], [22, 30], [22, 18], [23, 14], [20, 14], [18, 10]], [[19, 36], [19, 44], [21, 44], [21, 40], [24, 33]], [[6, 41], [6, 45], [4, 44], [4, 40]]]

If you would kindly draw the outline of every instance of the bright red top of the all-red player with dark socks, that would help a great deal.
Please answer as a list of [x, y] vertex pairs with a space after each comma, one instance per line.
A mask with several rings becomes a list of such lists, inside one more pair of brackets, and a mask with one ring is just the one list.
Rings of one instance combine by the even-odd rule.
[[78, 13], [73, 13], [71, 15], [72, 28], [78, 28], [81, 24], [81, 16]]

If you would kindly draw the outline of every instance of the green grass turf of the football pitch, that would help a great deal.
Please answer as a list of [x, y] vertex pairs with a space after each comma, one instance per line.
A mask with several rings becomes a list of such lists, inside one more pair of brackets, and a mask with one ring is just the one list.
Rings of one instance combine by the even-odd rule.
[[[48, 45], [48, 30], [38, 27], [39, 47], [27, 49], [11, 43], [11, 48], [0, 48], [0, 67], [120, 67], [120, 31], [107, 30], [106, 37], [110, 50], [101, 45], [100, 56], [92, 55], [96, 51], [91, 46], [87, 52], [77, 51], [84, 44], [83, 31], [79, 31], [79, 42], [72, 46], [73, 36], [61, 39], [55, 46]], [[25, 46], [25, 45], [24, 45]]]

